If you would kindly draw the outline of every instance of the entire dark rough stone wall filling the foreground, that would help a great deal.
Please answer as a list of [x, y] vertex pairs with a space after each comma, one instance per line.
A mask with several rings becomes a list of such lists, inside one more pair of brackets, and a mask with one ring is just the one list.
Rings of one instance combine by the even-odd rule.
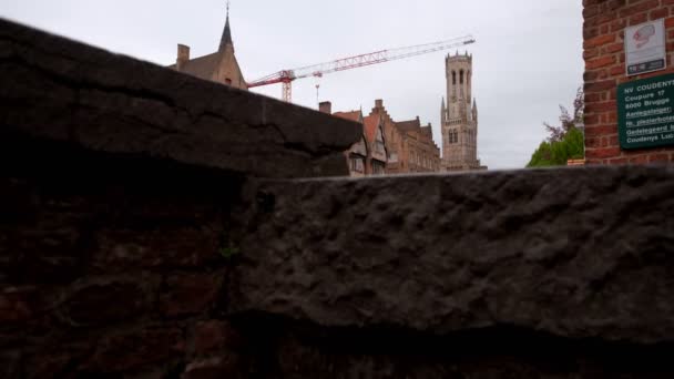
[[0, 35], [0, 377], [672, 377], [672, 168], [296, 178], [358, 125]]

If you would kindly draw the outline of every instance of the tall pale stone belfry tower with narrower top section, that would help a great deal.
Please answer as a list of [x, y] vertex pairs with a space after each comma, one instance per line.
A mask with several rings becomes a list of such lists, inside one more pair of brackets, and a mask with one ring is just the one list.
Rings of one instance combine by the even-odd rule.
[[446, 171], [487, 170], [478, 160], [478, 105], [472, 98], [472, 55], [447, 55], [447, 105], [442, 99], [442, 166]]

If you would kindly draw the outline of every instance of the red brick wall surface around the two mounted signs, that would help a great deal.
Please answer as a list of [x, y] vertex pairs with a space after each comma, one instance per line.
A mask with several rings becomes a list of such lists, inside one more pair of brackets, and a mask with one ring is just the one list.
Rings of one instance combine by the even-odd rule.
[[[616, 86], [674, 72], [673, 0], [583, 0], [585, 157], [590, 164], [674, 162], [674, 146], [623, 151], [617, 135]], [[625, 75], [624, 29], [665, 18], [667, 70]]]

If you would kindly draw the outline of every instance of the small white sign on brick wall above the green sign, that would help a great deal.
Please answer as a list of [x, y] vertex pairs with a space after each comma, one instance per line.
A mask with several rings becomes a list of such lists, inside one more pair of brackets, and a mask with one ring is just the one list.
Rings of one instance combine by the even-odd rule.
[[627, 75], [666, 68], [667, 48], [664, 19], [625, 29], [625, 64]]

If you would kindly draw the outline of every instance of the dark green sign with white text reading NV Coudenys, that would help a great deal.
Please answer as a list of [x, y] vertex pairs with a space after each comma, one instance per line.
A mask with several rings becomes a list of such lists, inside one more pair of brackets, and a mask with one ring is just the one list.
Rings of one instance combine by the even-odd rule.
[[617, 86], [617, 133], [625, 150], [674, 145], [674, 74]]

